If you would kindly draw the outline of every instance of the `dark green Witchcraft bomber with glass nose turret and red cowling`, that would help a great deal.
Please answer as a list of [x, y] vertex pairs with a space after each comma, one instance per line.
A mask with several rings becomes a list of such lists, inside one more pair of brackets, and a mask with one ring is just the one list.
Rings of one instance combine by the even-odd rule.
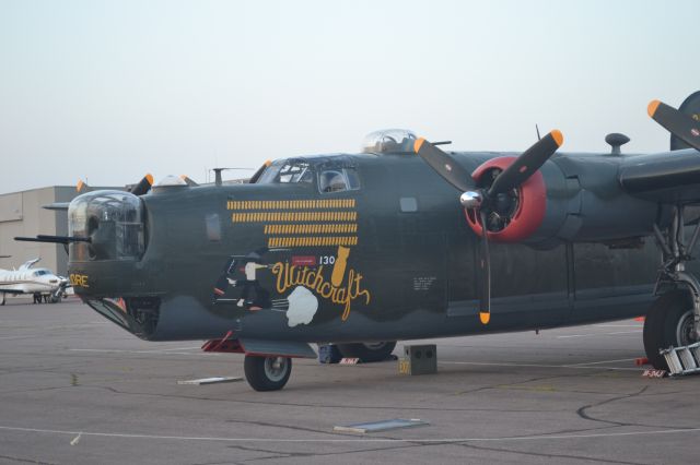
[[[396, 341], [646, 315], [660, 350], [699, 339], [700, 92], [649, 114], [670, 151], [446, 152], [410, 131], [360, 154], [266, 163], [249, 183], [92, 191], [68, 205], [70, 282], [149, 341], [245, 354], [257, 391], [283, 388], [310, 343], [385, 358]], [[686, 227], [690, 235], [686, 237]]]

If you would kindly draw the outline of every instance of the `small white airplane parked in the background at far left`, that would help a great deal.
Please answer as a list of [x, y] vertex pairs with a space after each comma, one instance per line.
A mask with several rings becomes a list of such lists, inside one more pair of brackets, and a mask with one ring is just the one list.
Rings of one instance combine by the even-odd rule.
[[0, 305], [3, 306], [5, 295], [32, 294], [34, 303], [60, 302], [66, 288], [69, 286], [68, 279], [55, 275], [48, 269], [33, 269], [32, 265], [39, 259], [30, 260], [18, 270], [0, 269]]

